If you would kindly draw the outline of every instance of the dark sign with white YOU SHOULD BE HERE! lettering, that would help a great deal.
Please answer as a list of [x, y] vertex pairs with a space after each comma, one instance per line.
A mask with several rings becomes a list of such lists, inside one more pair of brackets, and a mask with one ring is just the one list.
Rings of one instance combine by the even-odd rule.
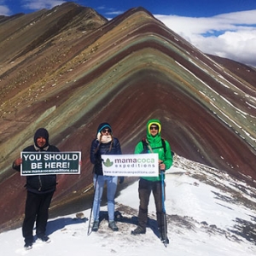
[[20, 175], [79, 174], [81, 152], [21, 152]]

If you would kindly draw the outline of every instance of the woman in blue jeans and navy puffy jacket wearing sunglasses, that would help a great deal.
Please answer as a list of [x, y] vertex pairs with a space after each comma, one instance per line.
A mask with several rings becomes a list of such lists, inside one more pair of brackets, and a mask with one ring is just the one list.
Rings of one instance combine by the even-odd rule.
[[[104, 184], [107, 183], [108, 197], [108, 227], [113, 231], [118, 231], [114, 221], [114, 195], [117, 188], [118, 177], [103, 176], [102, 172], [102, 154], [122, 154], [119, 140], [113, 137], [112, 128], [108, 123], [99, 125], [96, 138], [90, 146], [90, 162], [94, 164], [93, 183], [95, 196], [93, 201], [93, 218], [92, 231], [99, 229], [99, 214], [102, 201]], [[124, 182], [124, 177], [119, 177], [119, 183]]]

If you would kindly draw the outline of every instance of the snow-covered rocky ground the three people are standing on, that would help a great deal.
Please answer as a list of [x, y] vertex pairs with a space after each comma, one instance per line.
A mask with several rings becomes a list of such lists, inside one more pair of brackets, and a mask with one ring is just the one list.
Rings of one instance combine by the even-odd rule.
[[94, 255], [226, 255], [256, 254], [256, 189], [216, 169], [176, 156], [166, 174], [167, 247], [157, 237], [154, 199], [150, 200], [145, 235], [131, 236], [136, 227], [137, 182], [116, 198], [118, 232], [108, 229], [107, 207], [96, 233], [88, 231], [90, 209], [49, 219], [50, 243], [36, 241], [23, 248], [21, 230], [0, 234], [1, 254], [77, 256]]

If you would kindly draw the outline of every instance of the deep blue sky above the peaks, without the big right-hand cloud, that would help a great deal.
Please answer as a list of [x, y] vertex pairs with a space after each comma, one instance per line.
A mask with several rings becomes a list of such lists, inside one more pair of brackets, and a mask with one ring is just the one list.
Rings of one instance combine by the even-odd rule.
[[[30, 13], [38, 9], [51, 9], [64, 0], [0, 0], [7, 8], [5, 15]], [[71, 1], [70, 1], [71, 2]], [[72, 1], [96, 9], [104, 16], [114, 16], [132, 7], [143, 6], [154, 15], [210, 17], [224, 13], [256, 9], [255, 0], [79, 0]], [[0, 14], [4, 14], [0, 8]], [[113, 15], [109, 15], [113, 14]]]

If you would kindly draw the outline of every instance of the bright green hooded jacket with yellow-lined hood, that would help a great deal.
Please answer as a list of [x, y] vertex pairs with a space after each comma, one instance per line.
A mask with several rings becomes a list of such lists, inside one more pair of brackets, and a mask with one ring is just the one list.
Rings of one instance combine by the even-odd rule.
[[[158, 125], [159, 126], [159, 132], [158, 134], [153, 137], [150, 134], [150, 126], [151, 125]], [[164, 164], [166, 165], [166, 169], [169, 169], [172, 166], [172, 151], [170, 144], [165, 140], [166, 143], [166, 153], [165, 149], [163, 148], [162, 140], [161, 140], [161, 124], [160, 120], [158, 119], [150, 119], [148, 120], [147, 124], [147, 140], [152, 148], [154, 153], [158, 153], [159, 160], [162, 160]], [[137, 146], [135, 147], [135, 154], [141, 154], [144, 150], [143, 142], [137, 143]], [[148, 153], [152, 153], [148, 148]], [[160, 175], [158, 177], [141, 177], [143, 179], [147, 179], [149, 181], [160, 181]]]

